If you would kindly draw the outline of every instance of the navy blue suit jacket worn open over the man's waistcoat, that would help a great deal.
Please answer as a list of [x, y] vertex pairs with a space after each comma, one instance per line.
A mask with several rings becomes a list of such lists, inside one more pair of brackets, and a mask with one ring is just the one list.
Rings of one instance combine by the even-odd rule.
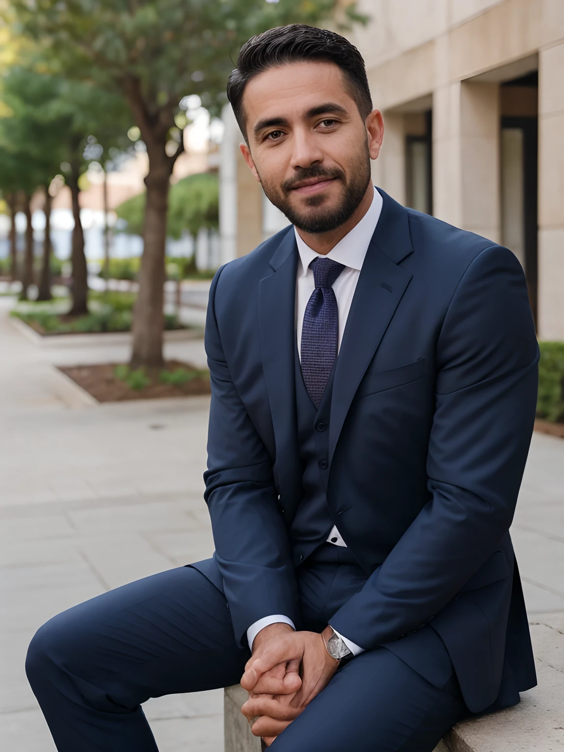
[[[411, 651], [416, 665], [429, 623], [481, 711], [508, 660], [519, 690], [535, 684], [508, 534], [535, 417], [535, 329], [511, 251], [381, 193], [329, 423], [329, 510], [369, 577], [331, 623], [362, 647]], [[196, 566], [220, 580], [241, 644], [269, 614], [299, 624], [297, 262], [290, 227], [221, 268], [208, 306], [216, 553]]]

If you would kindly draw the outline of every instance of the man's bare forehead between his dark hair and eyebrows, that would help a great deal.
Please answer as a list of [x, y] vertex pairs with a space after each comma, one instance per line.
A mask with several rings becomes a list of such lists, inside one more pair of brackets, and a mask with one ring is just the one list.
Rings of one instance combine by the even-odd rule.
[[247, 132], [252, 132], [258, 120], [301, 117], [322, 102], [336, 102], [348, 111], [356, 108], [335, 63], [293, 62], [268, 68], [251, 78], [244, 89]]

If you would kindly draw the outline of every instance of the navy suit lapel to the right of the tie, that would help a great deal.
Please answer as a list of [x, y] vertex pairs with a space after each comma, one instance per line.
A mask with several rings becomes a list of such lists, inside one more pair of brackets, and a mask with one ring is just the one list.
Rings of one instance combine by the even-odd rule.
[[408, 213], [380, 193], [384, 199], [381, 216], [362, 264], [335, 368], [329, 462], [360, 381], [412, 276], [397, 265], [413, 252]]

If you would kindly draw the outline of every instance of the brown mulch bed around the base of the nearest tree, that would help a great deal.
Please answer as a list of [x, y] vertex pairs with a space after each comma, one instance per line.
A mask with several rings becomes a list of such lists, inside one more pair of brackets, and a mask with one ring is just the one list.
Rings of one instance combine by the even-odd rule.
[[[79, 387], [86, 390], [97, 399], [98, 402], [124, 402], [129, 399], [159, 399], [164, 397], [193, 397], [201, 394], [211, 394], [210, 380], [208, 376], [197, 376], [186, 384], [160, 384], [160, 368], [155, 372], [147, 370], [147, 376], [151, 384], [140, 390], [131, 389], [125, 381], [117, 378], [114, 371], [117, 363], [104, 363], [102, 365], [74, 365], [71, 368], [59, 368]], [[199, 371], [190, 363], [180, 360], [168, 360], [165, 363], [168, 371], [175, 368], [186, 368], [186, 371]]]

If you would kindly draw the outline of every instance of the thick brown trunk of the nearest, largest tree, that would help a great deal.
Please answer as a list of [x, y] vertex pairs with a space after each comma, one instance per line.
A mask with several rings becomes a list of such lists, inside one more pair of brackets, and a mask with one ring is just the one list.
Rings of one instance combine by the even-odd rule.
[[[163, 150], [164, 152], [164, 150]], [[164, 155], [163, 155], [164, 156]], [[164, 160], [163, 160], [164, 161]], [[163, 365], [162, 312], [165, 284], [166, 216], [171, 168], [165, 162], [145, 178], [147, 202], [143, 223], [144, 250], [139, 270], [139, 292], [133, 316], [132, 368]]]

